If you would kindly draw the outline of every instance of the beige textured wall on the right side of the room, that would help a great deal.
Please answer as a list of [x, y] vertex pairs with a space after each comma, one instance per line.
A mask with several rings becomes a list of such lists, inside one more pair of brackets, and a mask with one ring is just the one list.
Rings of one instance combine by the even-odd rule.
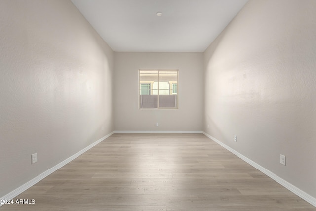
[[315, 198], [316, 1], [249, 1], [204, 58], [204, 131]]

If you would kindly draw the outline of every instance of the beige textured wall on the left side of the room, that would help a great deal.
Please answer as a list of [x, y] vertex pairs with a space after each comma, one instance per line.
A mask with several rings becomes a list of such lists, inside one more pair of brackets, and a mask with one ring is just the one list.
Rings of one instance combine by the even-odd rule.
[[0, 0], [0, 197], [114, 130], [112, 78], [69, 0]]

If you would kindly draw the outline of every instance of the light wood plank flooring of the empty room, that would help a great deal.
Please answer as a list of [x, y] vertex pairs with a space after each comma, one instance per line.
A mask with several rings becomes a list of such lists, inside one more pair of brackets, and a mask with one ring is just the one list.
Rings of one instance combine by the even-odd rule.
[[0, 211], [316, 211], [203, 134], [113, 134]]

